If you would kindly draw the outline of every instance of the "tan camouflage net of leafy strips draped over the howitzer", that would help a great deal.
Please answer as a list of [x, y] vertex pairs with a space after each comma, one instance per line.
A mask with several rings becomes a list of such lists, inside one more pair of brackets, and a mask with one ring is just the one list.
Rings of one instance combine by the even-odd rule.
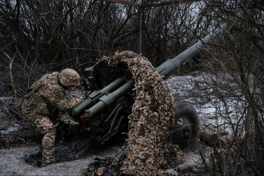
[[105, 56], [99, 62], [102, 61], [109, 66], [126, 63], [135, 79], [136, 101], [128, 117], [129, 132], [123, 147], [127, 157], [122, 161], [121, 172], [125, 175], [169, 175], [165, 171], [169, 155], [175, 163], [183, 158], [178, 146], [167, 142], [177, 111], [170, 90], [155, 67], [132, 51]]

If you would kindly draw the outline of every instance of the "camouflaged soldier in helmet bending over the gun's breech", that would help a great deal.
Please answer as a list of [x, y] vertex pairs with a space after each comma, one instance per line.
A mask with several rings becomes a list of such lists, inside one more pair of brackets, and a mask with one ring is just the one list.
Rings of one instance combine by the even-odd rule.
[[69, 110], [79, 104], [82, 99], [67, 99], [65, 89], [80, 84], [79, 74], [72, 69], [64, 69], [60, 73], [43, 75], [26, 92], [23, 113], [43, 135], [42, 165], [55, 163], [55, 126], [58, 110]]

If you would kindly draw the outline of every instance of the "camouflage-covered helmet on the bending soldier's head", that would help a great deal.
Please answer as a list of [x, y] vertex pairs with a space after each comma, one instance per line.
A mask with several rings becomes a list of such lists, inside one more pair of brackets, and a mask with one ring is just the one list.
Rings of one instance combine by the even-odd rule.
[[58, 79], [64, 86], [78, 86], [80, 84], [81, 77], [75, 70], [66, 68], [60, 72]]

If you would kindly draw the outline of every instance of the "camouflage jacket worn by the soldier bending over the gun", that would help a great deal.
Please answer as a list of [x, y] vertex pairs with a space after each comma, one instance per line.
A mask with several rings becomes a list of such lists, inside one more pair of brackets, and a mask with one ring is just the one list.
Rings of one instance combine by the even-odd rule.
[[28, 89], [23, 103], [23, 113], [55, 116], [57, 110], [69, 110], [82, 99], [68, 99], [65, 89], [58, 81], [59, 72], [43, 75]]

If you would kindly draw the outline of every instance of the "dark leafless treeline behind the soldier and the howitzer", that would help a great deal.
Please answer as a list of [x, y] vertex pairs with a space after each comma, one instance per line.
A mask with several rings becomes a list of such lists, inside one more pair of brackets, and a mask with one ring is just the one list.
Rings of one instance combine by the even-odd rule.
[[[155, 1], [143, 3], [150, 2]], [[27, 63], [63, 61], [77, 67], [117, 50], [138, 51], [137, 6], [99, 0], [5, 0], [0, 9], [1, 50], [11, 56], [18, 50]], [[195, 9], [199, 11], [192, 3], [145, 9], [143, 55], [158, 65], [190, 45], [194, 35], [185, 26], [197, 33], [191, 13]]]

